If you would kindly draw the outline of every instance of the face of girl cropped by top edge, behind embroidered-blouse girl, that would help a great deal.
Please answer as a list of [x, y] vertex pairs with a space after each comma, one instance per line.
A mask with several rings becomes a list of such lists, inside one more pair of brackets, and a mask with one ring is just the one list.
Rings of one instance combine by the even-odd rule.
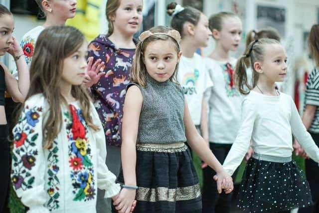
[[50, 0], [52, 14], [61, 20], [75, 16], [76, 0]]

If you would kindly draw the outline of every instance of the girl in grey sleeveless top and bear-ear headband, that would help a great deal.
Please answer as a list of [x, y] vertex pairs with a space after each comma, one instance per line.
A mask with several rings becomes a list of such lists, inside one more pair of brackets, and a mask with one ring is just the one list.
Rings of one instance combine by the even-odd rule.
[[[118, 181], [127, 185], [114, 202], [127, 213], [200, 213], [198, 178], [184, 142], [216, 172], [218, 192], [233, 183], [192, 122], [182, 88], [176, 83], [180, 35], [164, 26], [140, 35], [132, 84], [124, 104], [122, 167]], [[185, 137], [186, 136], [186, 137]], [[213, 178], [213, 176], [211, 176]], [[115, 210], [114, 210], [115, 212]]]

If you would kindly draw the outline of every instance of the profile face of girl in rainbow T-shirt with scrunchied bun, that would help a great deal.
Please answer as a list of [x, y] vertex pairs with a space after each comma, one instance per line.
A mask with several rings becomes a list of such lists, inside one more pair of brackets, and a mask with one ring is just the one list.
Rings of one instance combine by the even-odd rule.
[[208, 28], [208, 19], [206, 15], [201, 14], [197, 25], [194, 28], [194, 39], [197, 41], [196, 47], [206, 47], [211, 31]]

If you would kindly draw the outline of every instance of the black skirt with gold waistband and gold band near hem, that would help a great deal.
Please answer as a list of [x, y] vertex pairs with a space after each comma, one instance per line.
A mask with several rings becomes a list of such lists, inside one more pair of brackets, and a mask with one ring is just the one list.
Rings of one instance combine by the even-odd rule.
[[[137, 144], [134, 213], [201, 213], [198, 177], [184, 143]], [[119, 183], [124, 183], [121, 170]]]

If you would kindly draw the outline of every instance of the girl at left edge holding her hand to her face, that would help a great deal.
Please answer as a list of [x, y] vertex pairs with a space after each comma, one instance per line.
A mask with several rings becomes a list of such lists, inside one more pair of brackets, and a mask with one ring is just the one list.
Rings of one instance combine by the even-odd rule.
[[0, 62], [0, 212], [2, 212], [9, 184], [9, 142], [8, 124], [4, 109], [4, 91], [8, 91], [15, 101], [23, 102], [26, 97], [30, 81], [27, 65], [15, 37], [12, 36], [14, 19], [12, 13], [0, 4], [0, 56], [6, 52], [13, 56], [19, 81], [8, 71], [7, 67]]

